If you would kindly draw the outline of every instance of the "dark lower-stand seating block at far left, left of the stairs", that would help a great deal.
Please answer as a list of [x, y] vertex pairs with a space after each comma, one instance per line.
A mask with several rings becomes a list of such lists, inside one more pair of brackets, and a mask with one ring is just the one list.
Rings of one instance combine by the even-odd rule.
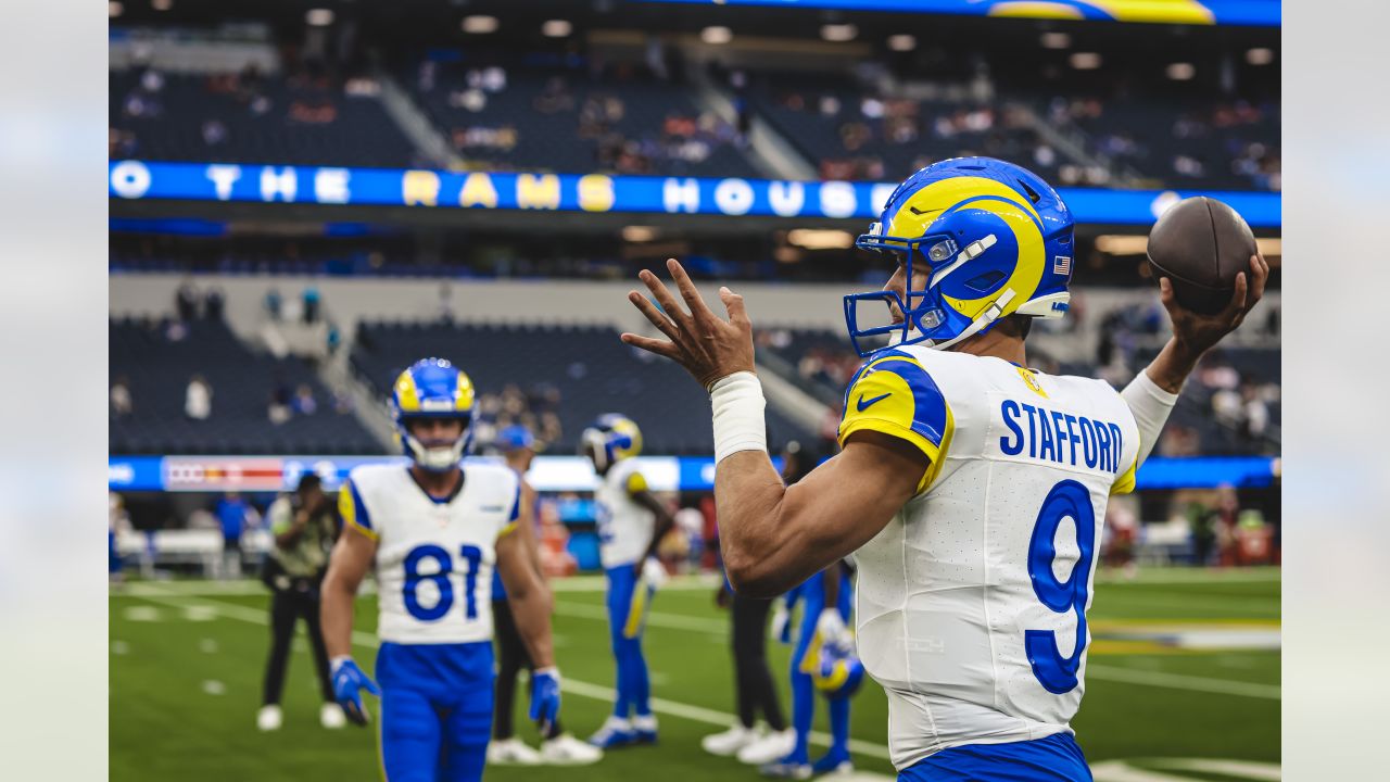
[[[171, 334], [183, 334], [171, 340]], [[183, 415], [189, 380], [213, 388], [211, 415]], [[113, 454], [379, 454], [381, 444], [352, 413], [334, 412], [332, 395], [299, 359], [252, 352], [220, 320], [110, 321], [110, 377], [128, 381], [133, 412], [110, 419]], [[275, 385], [309, 385], [314, 415], [272, 424]]]

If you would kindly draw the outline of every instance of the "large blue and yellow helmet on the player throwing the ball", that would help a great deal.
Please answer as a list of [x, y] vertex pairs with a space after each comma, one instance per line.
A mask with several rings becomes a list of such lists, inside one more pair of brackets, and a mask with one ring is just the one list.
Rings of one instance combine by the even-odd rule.
[[[1070, 303], [1072, 213], [1041, 177], [1004, 160], [956, 157], [922, 168], [855, 245], [899, 255], [906, 276], [902, 298], [845, 296], [845, 324], [862, 356], [874, 349], [860, 346], [865, 337], [944, 349], [1001, 317], [1061, 317]], [[860, 302], [897, 305], [903, 321], [862, 328]]]

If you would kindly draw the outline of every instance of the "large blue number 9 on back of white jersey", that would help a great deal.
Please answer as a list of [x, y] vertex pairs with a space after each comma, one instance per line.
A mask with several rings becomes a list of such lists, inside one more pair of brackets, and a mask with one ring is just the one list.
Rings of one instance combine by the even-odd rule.
[[[1065, 582], [1052, 572], [1056, 559], [1056, 532], [1062, 519], [1076, 523], [1076, 545], [1080, 554], [1072, 573]], [[1091, 561], [1095, 555], [1095, 506], [1091, 493], [1079, 481], [1063, 480], [1048, 491], [1033, 525], [1033, 540], [1029, 543], [1029, 577], [1033, 593], [1049, 611], [1066, 614], [1076, 611], [1076, 648], [1070, 657], [1062, 657], [1054, 630], [1024, 630], [1023, 647], [1033, 667], [1033, 675], [1049, 693], [1065, 694], [1080, 685], [1077, 673], [1081, 668], [1081, 654], [1086, 651], [1086, 604], [1090, 598]]]

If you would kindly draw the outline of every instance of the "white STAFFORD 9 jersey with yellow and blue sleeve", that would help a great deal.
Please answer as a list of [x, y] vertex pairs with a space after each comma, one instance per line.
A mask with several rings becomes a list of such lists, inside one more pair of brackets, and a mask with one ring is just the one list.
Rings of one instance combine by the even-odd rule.
[[860, 430], [931, 459], [855, 552], [859, 654], [888, 693], [894, 765], [1070, 732], [1105, 504], [1134, 487], [1129, 406], [1102, 380], [902, 346], [851, 383], [840, 441]]

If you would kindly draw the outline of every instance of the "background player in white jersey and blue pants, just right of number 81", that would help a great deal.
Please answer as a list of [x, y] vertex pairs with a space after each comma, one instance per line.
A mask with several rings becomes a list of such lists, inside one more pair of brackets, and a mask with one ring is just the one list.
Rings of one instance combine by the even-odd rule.
[[589, 736], [602, 747], [656, 742], [652, 685], [642, 657], [642, 632], [652, 596], [666, 582], [656, 547], [674, 519], [648, 490], [634, 456], [642, 452], [642, 433], [631, 419], [607, 413], [584, 430], [582, 452], [594, 462], [599, 486], [599, 559], [607, 576], [609, 636], [617, 662], [613, 714]]

